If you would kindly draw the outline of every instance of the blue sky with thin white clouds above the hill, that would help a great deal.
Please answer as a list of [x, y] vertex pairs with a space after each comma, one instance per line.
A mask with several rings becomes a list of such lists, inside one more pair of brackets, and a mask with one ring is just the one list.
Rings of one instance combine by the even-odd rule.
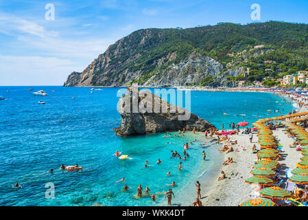
[[308, 23], [308, 0], [0, 0], [0, 86], [63, 85], [143, 28], [263, 21]]

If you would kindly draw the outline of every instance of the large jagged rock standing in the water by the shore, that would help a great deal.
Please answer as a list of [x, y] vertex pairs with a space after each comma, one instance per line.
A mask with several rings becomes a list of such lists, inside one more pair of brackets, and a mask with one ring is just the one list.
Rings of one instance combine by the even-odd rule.
[[127, 95], [119, 99], [119, 113], [121, 126], [114, 130], [121, 137], [183, 128], [192, 131], [194, 127], [196, 131], [206, 131], [213, 127], [186, 109], [176, 107], [150, 91], [139, 91], [137, 87], [128, 87]]

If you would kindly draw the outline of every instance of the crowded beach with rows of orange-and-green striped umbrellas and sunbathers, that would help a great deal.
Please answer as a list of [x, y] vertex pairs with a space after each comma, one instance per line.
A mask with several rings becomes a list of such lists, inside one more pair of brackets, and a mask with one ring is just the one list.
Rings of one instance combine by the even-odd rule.
[[225, 161], [217, 181], [202, 192], [203, 206], [307, 206], [308, 99], [272, 92], [298, 112], [270, 112], [232, 135], [214, 136]]

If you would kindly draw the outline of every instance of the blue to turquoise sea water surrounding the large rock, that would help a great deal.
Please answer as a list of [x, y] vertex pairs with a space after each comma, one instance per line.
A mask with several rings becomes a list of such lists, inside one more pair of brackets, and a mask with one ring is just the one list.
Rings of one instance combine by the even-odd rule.
[[[220, 160], [217, 146], [204, 140], [202, 133], [185, 137], [162, 137], [164, 134], [118, 137], [111, 129], [119, 126], [118, 88], [71, 87], [0, 87], [0, 206], [156, 206], [165, 205], [166, 184], [176, 181], [174, 205], [189, 205], [196, 194], [196, 181], [202, 173]], [[6, 92], [10, 89], [10, 92]], [[43, 89], [49, 96], [34, 96]], [[51, 92], [53, 90], [55, 92]], [[71, 97], [75, 99], [72, 100]], [[46, 104], [38, 104], [43, 100]], [[254, 122], [257, 116], [268, 117], [276, 109], [288, 113], [292, 105], [267, 93], [191, 92], [191, 111], [221, 129], [230, 122]], [[280, 105], [281, 104], [281, 105]], [[284, 111], [282, 111], [284, 109]], [[224, 115], [228, 113], [229, 115]], [[241, 116], [239, 114], [245, 114]], [[270, 116], [279, 115], [272, 113]], [[182, 155], [182, 144], [189, 144], [190, 157], [182, 161], [170, 159], [171, 150]], [[206, 151], [206, 161], [202, 151]], [[121, 151], [132, 159], [117, 159]], [[155, 164], [160, 158], [163, 163]], [[150, 168], [143, 168], [145, 160]], [[75, 165], [80, 172], [60, 170], [61, 164]], [[54, 173], [47, 173], [54, 168]], [[171, 176], [165, 174], [171, 170]], [[206, 175], [206, 174], [205, 174]], [[122, 192], [125, 177], [132, 188]], [[11, 185], [19, 182], [23, 188]], [[45, 184], [55, 186], [55, 198], [45, 198]], [[139, 184], [156, 193], [156, 203], [149, 197], [134, 197]]]

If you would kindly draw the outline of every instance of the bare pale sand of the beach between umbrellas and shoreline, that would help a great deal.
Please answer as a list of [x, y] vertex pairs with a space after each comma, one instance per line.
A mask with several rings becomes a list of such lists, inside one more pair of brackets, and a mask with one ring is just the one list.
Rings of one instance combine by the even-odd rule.
[[[295, 102], [295, 104], [297, 103]], [[307, 110], [305, 107], [301, 107], [299, 111]], [[226, 178], [220, 181], [213, 179], [211, 187], [204, 186], [204, 182], [201, 182], [202, 206], [239, 206], [242, 202], [259, 196], [257, 192], [259, 186], [245, 183], [245, 180], [252, 176], [250, 170], [252, 170], [254, 162], [257, 162], [257, 154], [252, 153], [252, 146], [255, 144], [257, 149], [260, 149], [258, 136], [254, 133], [252, 143], [250, 143], [248, 135], [242, 134], [242, 131], [244, 129], [241, 129], [239, 135], [231, 136], [230, 140], [237, 140], [237, 144], [233, 145], [234, 151], [230, 153], [221, 152], [224, 154], [224, 161], [228, 157], [232, 157], [234, 161], [233, 164], [226, 166], [222, 165], [224, 161], [221, 162], [221, 170], [226, 173]], [[281, 164], [279, 178], [283, 179], [281, 187], [285, 188], [287, 181], [285, 169], [296, 168], [296, 163], [299, 161], [301, 154], [296, 151], [296, 148], [289, 147], [294, 140], [284, 133], [283, 129], [276, 129], [276, 131], [273, 131], [273, 135], [283, 146], [278, 162]], [[217, 150], [223, 146], [223, 143], [217, 144]], [[217, 171], [217, 178], [221, 175], [220, 171]], [[202, 190], [202, 185], [206, 190]], [[209, 188], [210, 190], [208, 190]]]

